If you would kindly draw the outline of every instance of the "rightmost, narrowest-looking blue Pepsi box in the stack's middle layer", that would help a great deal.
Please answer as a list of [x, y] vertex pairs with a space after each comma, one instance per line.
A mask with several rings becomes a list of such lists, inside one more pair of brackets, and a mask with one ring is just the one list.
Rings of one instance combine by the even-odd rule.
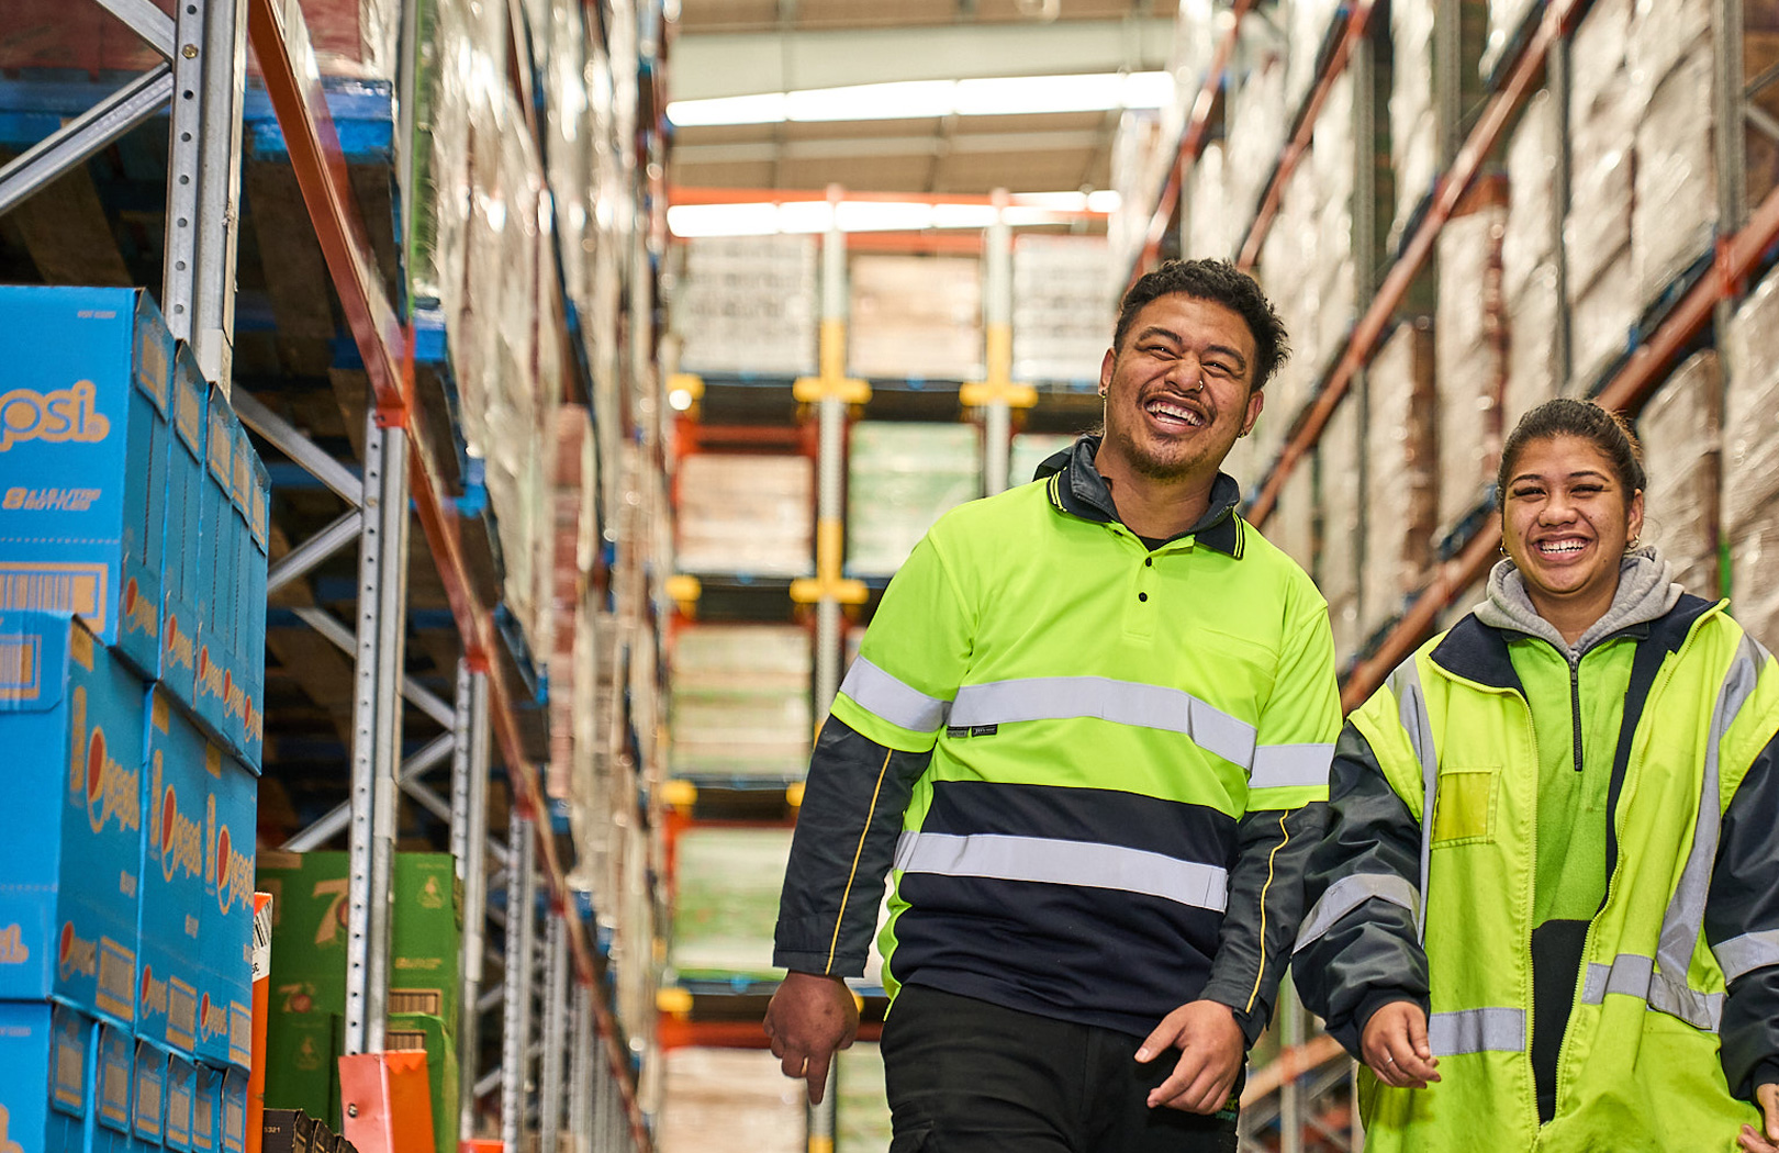
[[253, 888], [260, 779], [213, 746], [205, 762], [205, 913], [197, 1057], [246, 1069], [253, 1062]]

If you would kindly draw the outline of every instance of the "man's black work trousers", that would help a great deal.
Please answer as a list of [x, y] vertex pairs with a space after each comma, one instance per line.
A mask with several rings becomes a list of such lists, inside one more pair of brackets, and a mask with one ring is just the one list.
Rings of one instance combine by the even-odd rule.
[[1149, 1109], [1178, 1050], [904, 986], [884, 1021], [891, 1153], [1233, 1153], [1236, 1110]]

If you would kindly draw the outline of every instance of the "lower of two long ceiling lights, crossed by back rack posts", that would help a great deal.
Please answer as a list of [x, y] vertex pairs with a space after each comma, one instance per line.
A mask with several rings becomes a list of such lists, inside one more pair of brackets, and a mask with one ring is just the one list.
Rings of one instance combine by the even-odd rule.
[[[1010, 226], [1060, 224], [1073, 214], [1112, 212], [1117, 192], [1028, 192], [1012, 196], [1005, 208]], [[785, 205], [672, 205], [667, 230], [680, 237], [763, 237], [772, 233], [825, 233], [838, 222], [841, 231], [927, 231], [982, 230], [994, 222], [994, 208], [984, 203], [922, 201], [790, 201]]]

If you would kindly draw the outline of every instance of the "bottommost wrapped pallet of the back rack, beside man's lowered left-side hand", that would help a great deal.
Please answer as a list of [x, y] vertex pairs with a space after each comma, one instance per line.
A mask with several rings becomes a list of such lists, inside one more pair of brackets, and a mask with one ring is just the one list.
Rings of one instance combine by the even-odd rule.
[[802, 1082], [765, 1050], [672, 1048], [664, 1057], [662, 1153], [802, 1153]]

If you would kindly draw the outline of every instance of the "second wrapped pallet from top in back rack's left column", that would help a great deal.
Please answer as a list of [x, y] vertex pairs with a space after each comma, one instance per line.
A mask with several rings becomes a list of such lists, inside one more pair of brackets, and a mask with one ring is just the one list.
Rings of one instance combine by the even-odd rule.
[[674, 553], [683, 573], [804, 576], [815, 569], [815, 463], [697, 452], [680, 461]]

